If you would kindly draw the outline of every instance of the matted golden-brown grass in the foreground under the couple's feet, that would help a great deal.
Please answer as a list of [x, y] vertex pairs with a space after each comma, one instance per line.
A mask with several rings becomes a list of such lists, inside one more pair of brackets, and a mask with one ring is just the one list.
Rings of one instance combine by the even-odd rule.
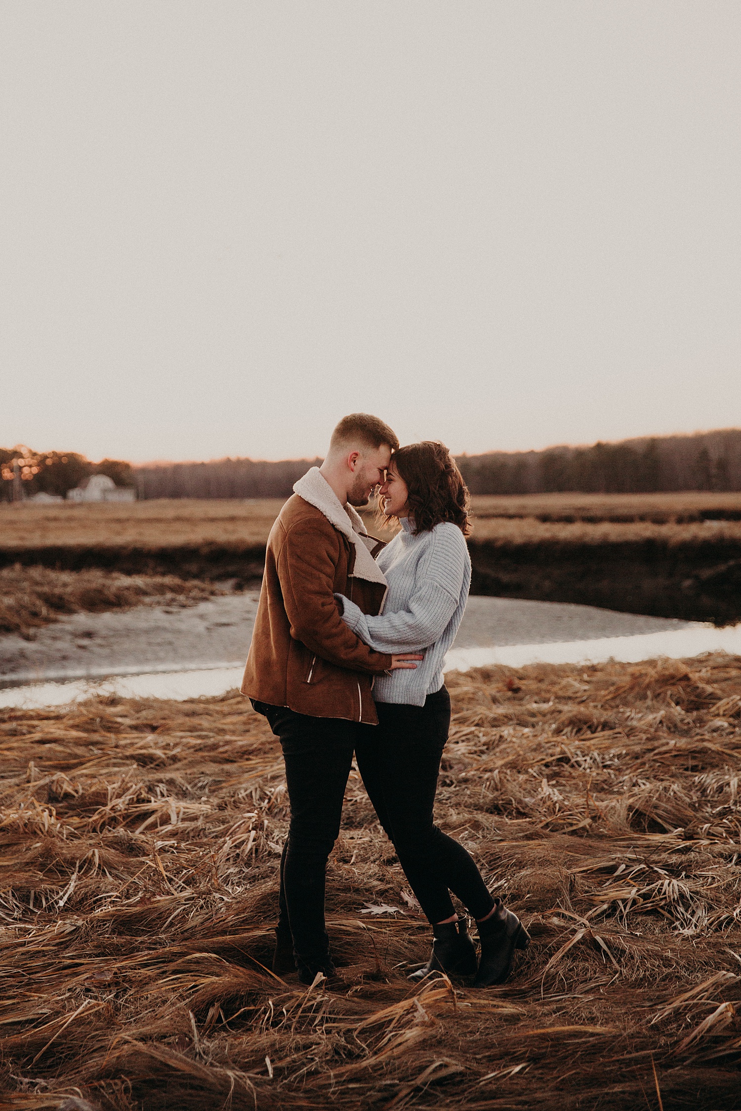
[[268, 971], [287, 799], [237, 694], [0, 711], [0, 1105], [738, 1108], [741, 658], [448, 681], [438, 821], [533, 939], [483, 991], [407, 980], [429, 930], [357, 777], [343, 985]]

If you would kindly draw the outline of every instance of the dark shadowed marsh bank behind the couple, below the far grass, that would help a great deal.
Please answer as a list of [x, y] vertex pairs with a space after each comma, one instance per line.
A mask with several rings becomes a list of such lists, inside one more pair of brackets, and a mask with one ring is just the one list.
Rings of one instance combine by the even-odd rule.
[[[477, 594], [717, 624], [741, 619], [741, 543], [735, 537], [602, 543], [471, 538], [469, 548]], [[0, 567], [101, 568], [246, 584], [259, 580], [263, 561], [263, 543], [0, 546]]]

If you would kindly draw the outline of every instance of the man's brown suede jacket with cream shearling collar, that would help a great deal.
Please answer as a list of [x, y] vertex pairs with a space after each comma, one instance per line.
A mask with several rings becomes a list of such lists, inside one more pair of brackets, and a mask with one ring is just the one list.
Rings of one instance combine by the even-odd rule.
[[359, 640], [333, 598], [380, 612], [387, 588], [370, 558], [375, 542], [361, 539], [360, 517], [346, 512], [318, 468], [293, 489], [268, 538], [242, 694], [316, 718], [377, 724], [372, 680], [391, 657]]

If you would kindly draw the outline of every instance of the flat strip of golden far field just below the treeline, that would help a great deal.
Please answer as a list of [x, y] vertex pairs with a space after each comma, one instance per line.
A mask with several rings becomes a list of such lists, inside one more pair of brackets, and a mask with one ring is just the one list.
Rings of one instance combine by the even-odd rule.
[[[0, 547], [136, 544], [263, 544], [283, 499], [139, 501], [81, 506], [0, 504]], [[532, 543], [553, 539], [612, 543], [620, 539], [741, 538], [741, 523], [712, 522], [703, 512], [741, 513], [741, 493], [528, 494], [472, 499], [474, 539]], [[371, 532], [379, 530], [366, 513]], [[542, 518], [542, 520], [541, 520]]]

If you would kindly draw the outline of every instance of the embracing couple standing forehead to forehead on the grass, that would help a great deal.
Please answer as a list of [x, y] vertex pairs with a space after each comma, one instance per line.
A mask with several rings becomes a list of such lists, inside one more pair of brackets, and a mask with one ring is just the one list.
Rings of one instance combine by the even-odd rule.
[[[380, 487], [401, 531], [383, 544], [354, 507]], [[448, 449], [399, 447], [388, 424], [344, 417], [321, 467], [293, 487], [270, 532], [242, 693], [280, 740], [291, 807], [280, 862], [273, 969], [334, 974], [324, 924], [327, 859], [353, 753], [379, 821], [432, 925], [415, 973], [502, 983], [528, 934], [433, 821], [450, 695], [442, 664], [471, 581], [468, 490]], [[450, 892], [475, 919], [481, 954]]]

